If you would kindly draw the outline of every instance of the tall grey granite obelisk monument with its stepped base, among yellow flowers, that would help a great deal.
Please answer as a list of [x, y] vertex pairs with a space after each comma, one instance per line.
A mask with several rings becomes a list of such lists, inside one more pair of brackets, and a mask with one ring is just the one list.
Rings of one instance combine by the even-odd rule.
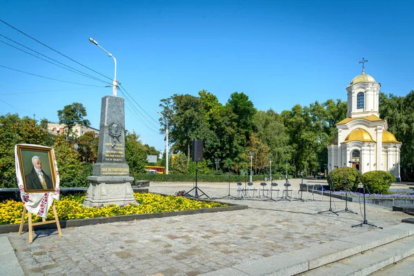
[[97, 163], [93, 165], [84, 206], [134, 203], [129, 166], [125, 162], [124, 98], [102, 98]]

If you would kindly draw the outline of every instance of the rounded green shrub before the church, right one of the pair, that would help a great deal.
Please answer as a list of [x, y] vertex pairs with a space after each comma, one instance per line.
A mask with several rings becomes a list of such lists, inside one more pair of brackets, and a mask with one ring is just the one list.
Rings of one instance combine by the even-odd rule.
[[367, 192], [374, 194], [384, 194], [388, 192], [391, 183], [395, 182], [395, 177], [384, 170], [365, 172], [362, 177], [366, 184], [366, 188], [368, 188]]

